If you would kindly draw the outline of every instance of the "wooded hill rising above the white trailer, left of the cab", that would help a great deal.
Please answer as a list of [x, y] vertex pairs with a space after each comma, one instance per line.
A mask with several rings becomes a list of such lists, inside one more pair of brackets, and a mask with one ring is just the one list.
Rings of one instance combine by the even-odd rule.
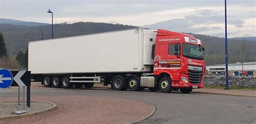
[[[53, 26], [53, 37], [70, 37], [133, 28], [136, 28], [136, 26], [94, 22], [62, 23]], [[25, 51], [26, 47], [28, 47], [28, 42], [42, 40], [42, 31], [39, 31], [39, 29], [44, 31], [44, 39], [51, 39], [51, 25], [24, 26], [0, 24], [0, 32], [3, 33], [8, 52], [15, 55], [19, 50]]]

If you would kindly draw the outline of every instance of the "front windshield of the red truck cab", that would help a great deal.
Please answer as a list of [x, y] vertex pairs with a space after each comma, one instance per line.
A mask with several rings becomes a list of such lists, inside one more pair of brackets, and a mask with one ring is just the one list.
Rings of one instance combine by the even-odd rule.
[[199, 45], [183, 43], [183, 56], [190, 59], [204, 60], [204, 52]]

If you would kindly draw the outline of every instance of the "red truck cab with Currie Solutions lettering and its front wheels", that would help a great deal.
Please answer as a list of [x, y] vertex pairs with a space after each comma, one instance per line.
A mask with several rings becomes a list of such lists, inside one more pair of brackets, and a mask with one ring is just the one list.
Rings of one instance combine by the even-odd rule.
[[153, 49], [153, 74], [161, 92], [180, 89], [189, 93], [193, 88], [204, 87], [205, 49], [201, 40], [184, 33], [159, 29]]

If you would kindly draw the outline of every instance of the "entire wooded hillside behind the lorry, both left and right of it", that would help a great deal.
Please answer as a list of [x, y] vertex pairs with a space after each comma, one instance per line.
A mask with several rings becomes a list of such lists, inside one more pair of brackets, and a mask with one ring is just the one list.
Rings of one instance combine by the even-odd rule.
[[[86, 35], [90, 33], [99, 33], [106, 31], [116, 31], [124, 29], [133, 29], [136, 26], [94, 22], [78, 22], [73, 24], [55, 24], [53, 27], [54, 38]], [[19, 50], [25, 51], [28, 42], [41, 40], [44, 30], [44, 39], [51, 38], [51, 25], [44, 26], [24, 26], [0, 24], [0, 32], [3, 33], [8, 52], [12, 56], [16, 56]], [[218, 38], [207, 35], [199, 35], [190, 33], [198, 39], [203, 40], [205, 51], [206, 65], [225, 64], [225, 38]], [[228, 39], [228, 56], [229, 63], [241, 62], [242, 38]], [[256, 41], [250, 40], [246, 42], [245, 61], [256, 61]]]

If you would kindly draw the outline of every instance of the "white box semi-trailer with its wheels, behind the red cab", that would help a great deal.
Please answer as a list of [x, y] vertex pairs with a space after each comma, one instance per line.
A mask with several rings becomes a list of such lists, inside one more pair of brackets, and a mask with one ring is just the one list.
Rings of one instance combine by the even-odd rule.
[[156, 34], [130, 29], [29, 42], [28, 68], [44, 86], [64, 88], [90, 88], [100, 78], [110, 84], [116, 75], [152, 73]]

